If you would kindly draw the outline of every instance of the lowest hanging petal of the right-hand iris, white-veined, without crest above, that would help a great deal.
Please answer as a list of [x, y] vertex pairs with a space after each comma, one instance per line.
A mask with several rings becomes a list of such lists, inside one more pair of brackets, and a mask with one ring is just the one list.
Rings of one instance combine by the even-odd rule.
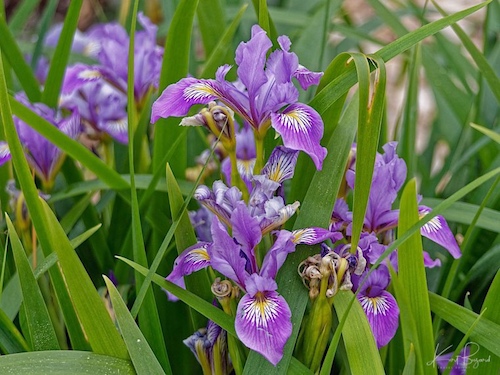
[[385, 290], [373, 297], [360, 293], [358, 300], [368, 318], [377, 347], [387, 345], [398, 329], [399, 307], [396, 300]]

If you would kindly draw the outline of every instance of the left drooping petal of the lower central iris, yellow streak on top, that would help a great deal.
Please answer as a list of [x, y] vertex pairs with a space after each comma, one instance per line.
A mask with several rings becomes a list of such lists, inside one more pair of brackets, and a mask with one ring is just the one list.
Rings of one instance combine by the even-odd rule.
[[[174, 268], [166, 277], [166, 280], [184, 288], [184, 276], [190, 275], [210, 265], [210, 256], [208, 254], [208, 248], [210, 246], [210, 242], [198, 242], [184, 250], [175, 259]], [[167, 292], [167, 295], [168, 299], [171, 301], [178, 300], [178, 298], [170, 292]]]

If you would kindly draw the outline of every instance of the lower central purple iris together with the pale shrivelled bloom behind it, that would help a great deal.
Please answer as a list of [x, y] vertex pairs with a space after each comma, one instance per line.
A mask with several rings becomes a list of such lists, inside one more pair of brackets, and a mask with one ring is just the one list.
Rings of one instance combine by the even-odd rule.
[[[286, 158], [288, 154], [284, 152], [282, 156]], [[286, 179], [289, 172], [277, 172], [279, 165], [286, 163], [278, 160], [283, 159], [272, 159], [277, 165], [268, 165], [266, 170]], [[214, 214], [212, 240], [200, 241], [184, 250], [167, 280], [184, 287], [184, 276], [209, 266], [231, 280], [245, 293], [235, 314], [238, 338], [276, 365], [292, 332], [290, 308], [277, 292], [276, 274], [297, 244], [320, 243], [333, 234], [322, 228], [280, 230], [299, 203], [285, 204], [282, 197], [275, 196], [281, 183], [268, 175], [255, 175], [252, 179], [248, 203], [242, 200], [241, 191], [221, 181], [216, 181], [212, 190], [203, 185], [197, 189], [195, 198]], [[267, 233], [272, 234], [274, 243], [261, 256], [259, 244]], [[175, 299], [170, 294], [169, 298]]]

